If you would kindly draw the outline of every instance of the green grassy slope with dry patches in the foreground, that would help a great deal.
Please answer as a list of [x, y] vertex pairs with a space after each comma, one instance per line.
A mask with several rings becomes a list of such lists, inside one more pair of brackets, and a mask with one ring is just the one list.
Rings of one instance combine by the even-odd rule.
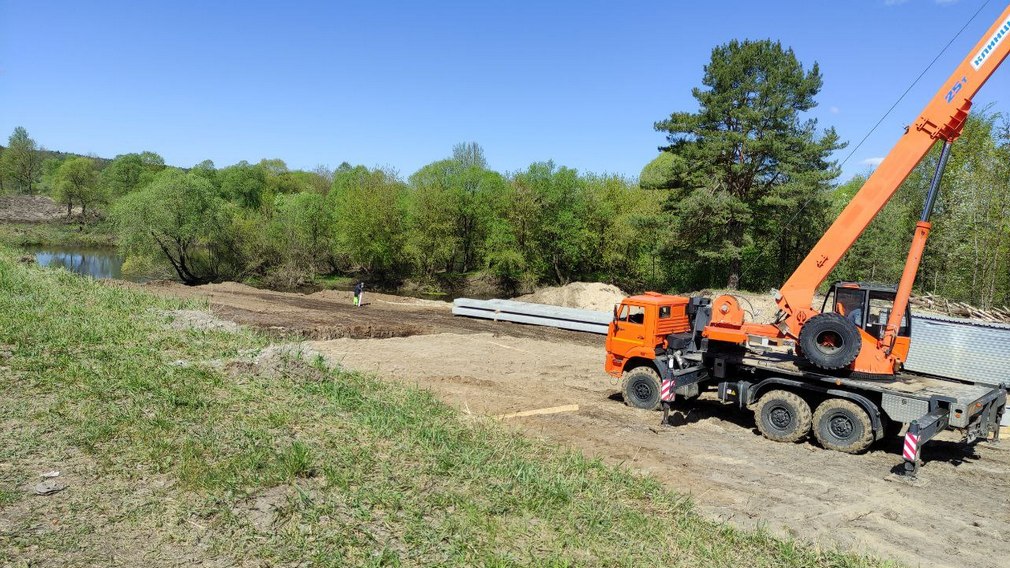
[[[0, 565], [871, 566], [0, 249]], [[70, 487], [26, 488], [61, 470]]]

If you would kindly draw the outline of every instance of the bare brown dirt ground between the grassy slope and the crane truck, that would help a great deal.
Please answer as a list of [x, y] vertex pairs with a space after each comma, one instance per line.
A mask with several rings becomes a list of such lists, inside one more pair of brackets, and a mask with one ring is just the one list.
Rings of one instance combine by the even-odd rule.
[[205, 297], [217, 316], [311, 340], [348, 369], [430, 388], [463, 412], [498, 415], [577, 404], [577, 411], [509, 418], [528, 435], [648, 473], [690, 494], [706, 514], [763, 526], [821, 547], [917, 566], [1010, 565], [1010, 442], [965, 449], [936, 441], [919, 481], [891, 474], [900, 439], [861, 456], [812, 442], [763, 438], [750, 412], [711, 394], [684, 406], [679, 425], [626, 407], [603, 372], [603, 338], [452, 317], [449, 304], [366, 292], [311, 295], [237, 284], [157, 292]]

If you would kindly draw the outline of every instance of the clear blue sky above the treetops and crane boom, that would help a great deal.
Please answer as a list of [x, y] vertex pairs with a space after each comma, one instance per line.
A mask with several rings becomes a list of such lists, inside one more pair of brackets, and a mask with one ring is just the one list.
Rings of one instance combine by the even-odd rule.
[[[1005, 7], [991, 0], [844, 166], [887, 154]], [[713, 46], [771, 37], [824, 77], [812, 113], [853, 146], [985, 0], [34, 2], [0, 0], [0, 135], [169, 164], [280, 158], [408, 176], [481, 144], [636, 177], [694, 110]], [[1010, 110], [1010, 64], [976, 108]], [[844, 158], [849, 150], [839, 153]]]

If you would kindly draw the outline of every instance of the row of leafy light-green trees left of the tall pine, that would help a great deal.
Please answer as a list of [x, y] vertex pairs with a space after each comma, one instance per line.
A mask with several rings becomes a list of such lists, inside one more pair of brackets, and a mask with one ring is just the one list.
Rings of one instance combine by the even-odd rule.
[[[0, 161], [15, 137], [26, 137], [24, 129]], [[50, 195], [69, 216], [94, 218], [101, 207], [128, 265], [167, 265], [189, 284], [257, 279], [290, 288], [356, 274], [445, 286], [475, 273], [506, 291], [660, 281], [646, 270], [654, 247], [645, 230], [658, 195], [620, 176], [551, 162], [501, 174], [475, 143], [406, 179], [346, 163], [289, 170], [280, 160], [182, 169], [144, 152], [104, 163], [41, 160], [30, 188], [14, 191]]]

